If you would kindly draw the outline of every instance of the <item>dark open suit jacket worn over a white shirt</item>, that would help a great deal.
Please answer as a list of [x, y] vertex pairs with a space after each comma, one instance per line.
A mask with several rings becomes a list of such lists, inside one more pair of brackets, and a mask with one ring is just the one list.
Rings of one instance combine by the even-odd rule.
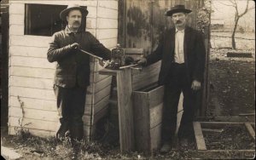
[[[174, 63], [175, 31], [175, 28], [167, 30], [160, 38], [157, 49], [146, 57], [147, 66], [158, 60], [162, 60], [159, 74], [160, 85], [166, 83], [167, 76], [172, 71], [171, 64]], [[184, 63], [188, 73], [189, 83], [192, 83], [193, 80], [202, 82], [206, 56], [202, 33], [186, 26], [183, 45]]]

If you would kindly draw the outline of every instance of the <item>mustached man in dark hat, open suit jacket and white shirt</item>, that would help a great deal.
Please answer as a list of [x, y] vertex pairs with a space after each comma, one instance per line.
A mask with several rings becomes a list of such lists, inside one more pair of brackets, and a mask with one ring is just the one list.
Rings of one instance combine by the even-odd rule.
[[159, 83], [165, 86], [165, 93], [160, 152], [172, 149], [181, 92], [184, 97], [183, 116], [177, 133], [180, 145], [187, 146], [189, 138], [194, 135], [195, 100], [203, 81], [206, 49], [201, 32], [187, 26], [187, 14], [190, 12], [184, 5], [168, 10], [166, 16], [171, 16], [175, 27], [165, 32], [152, 54], [137, 60], [145, 66], [162, 60]]

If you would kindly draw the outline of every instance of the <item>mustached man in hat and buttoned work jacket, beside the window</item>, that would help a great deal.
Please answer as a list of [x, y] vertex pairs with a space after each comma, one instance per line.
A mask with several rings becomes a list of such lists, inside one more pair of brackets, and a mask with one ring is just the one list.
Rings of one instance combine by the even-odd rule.
[[96, 54], [104, 60], [110, 59], [110, 50], [81, 27], [87, 14], [87, 9], [79, 5], [69, 5], [61, 11], [61, 20], [67, 26], [53, 35], [47, 52], [49, 62], [57, 62], [54, 91], [61, 127], [56, 136], [62, 139], [69, 132], [73, 142], [83, 139], [82, 117], [86, 89], [90, 85], [90, 56], [79, 49]]

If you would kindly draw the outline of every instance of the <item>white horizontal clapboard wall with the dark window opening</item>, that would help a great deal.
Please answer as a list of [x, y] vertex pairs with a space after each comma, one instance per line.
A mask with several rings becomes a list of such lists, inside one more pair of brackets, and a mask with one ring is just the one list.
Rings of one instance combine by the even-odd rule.
[[[9, 3], [9, 134], [15, 134], [15, 127], [20, 126], [20, 117], [24, 117], [22, 124], [30, 123], [25, 128], [32, 134], [43, 137], [55, 135], [59, 126], [52, 89], [55, 63], [46, 59], [51, 37], [24, 35], [25, 3], [77, 3], [87, 6], [87, 31], [108, 49], [113, 49], [118, 35], [118, 1], [10, 0]], [[94, 84], [102, 78], [96, 74], [90, 81]], [[23, 113], [18, 96], [24, 102]]]

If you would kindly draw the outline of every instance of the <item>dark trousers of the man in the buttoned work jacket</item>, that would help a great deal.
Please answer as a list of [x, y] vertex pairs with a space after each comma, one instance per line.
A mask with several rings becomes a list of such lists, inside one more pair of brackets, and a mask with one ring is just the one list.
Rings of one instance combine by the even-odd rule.
[[57, 100], [57, 110], [60, 117], [60, 129], [57, 137], [63, 138], [69, 130], [72, 140], [82, 140], [84, 134], [84, 106], [86, 89], [74, 87], [73, 89], [54, 86]]

